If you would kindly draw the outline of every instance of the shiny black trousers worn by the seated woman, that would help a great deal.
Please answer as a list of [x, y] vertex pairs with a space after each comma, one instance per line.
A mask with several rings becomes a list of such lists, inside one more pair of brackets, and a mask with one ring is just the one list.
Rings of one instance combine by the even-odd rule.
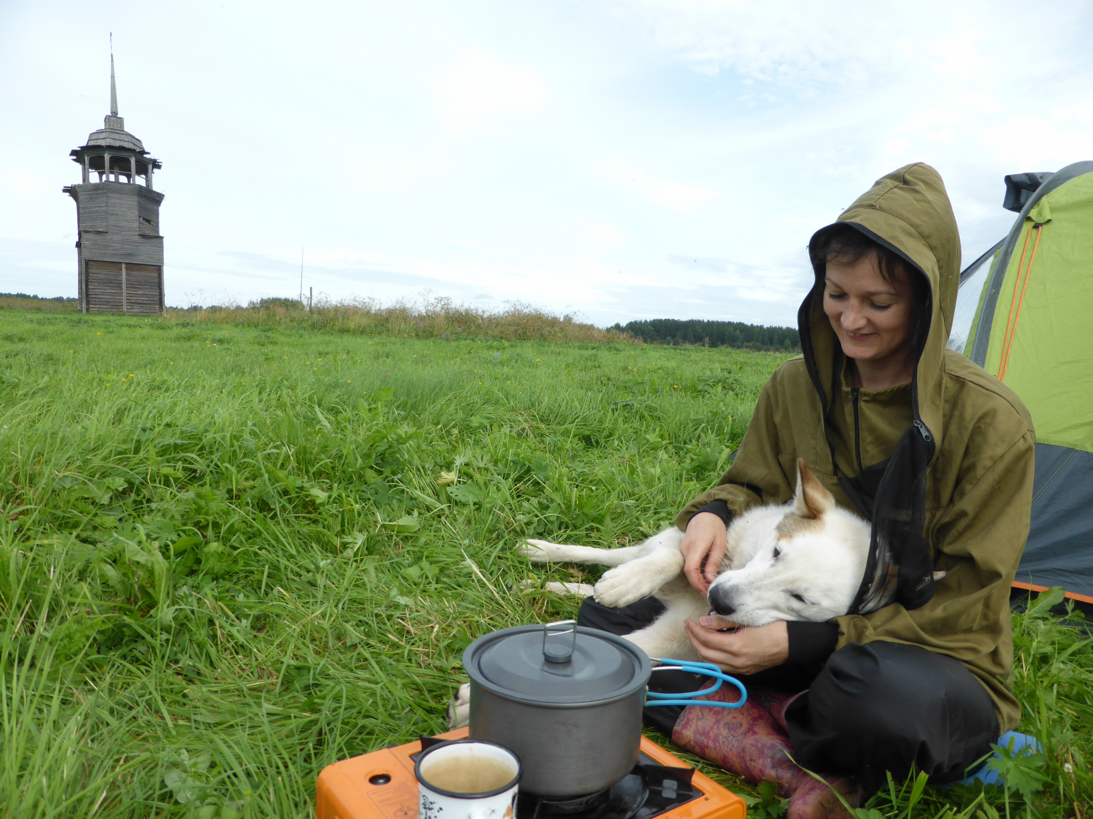
[[[607, 608], [589, 597], [577, 622], [628, 634], [662, 610], [653, 598]], [[686, 691], [703, 679], [660, 672], [649, 687]], [[888, 772], [897, 782], [912, 769], [935, 784], [961, 780], [982, 767], [998, 740], [995, 705], [983, 685], [960, 661], [918, 645], [848, 643], [815, 667], [783, 665], [739, 679], [749, 690], [808, 689], [786, 714], [795, 758], [813, 771], [857, 776], [870, 794], [886, 783]], [[681, 712], [654, 707], [645, 716], [671, 736]]]

